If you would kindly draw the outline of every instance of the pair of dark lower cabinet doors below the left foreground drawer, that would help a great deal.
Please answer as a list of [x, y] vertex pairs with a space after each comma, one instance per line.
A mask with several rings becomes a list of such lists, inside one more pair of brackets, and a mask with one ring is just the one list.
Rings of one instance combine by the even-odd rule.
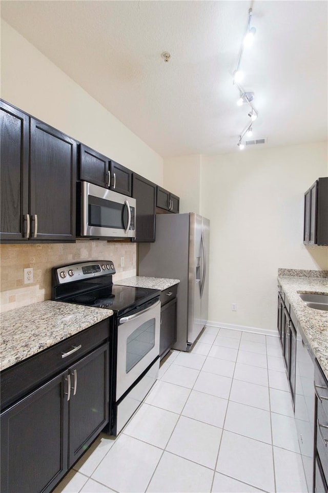
[[1, 493], [48, 493], [108, 423], [109, 344], [1, 414]]

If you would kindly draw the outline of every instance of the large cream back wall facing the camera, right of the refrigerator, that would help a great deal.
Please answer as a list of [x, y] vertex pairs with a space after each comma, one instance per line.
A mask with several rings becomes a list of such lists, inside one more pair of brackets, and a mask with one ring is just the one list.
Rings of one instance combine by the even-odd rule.
[[[201, 156], [199, 210], [211, 221], [214, 324], [276, 330], [278, 268], [328, 269], [327, 247], [302, 244], [303, 194], [326, 175], [324, 142]], [[183, 174], [171, 168], [170, 179], [178, 187]]]

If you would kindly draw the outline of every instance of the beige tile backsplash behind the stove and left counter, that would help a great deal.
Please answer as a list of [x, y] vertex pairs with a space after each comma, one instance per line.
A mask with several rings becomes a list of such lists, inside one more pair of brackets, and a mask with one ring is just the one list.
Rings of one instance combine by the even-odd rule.
[[[113, 282], [136, 275], [136, 243], [76, 240], [76, 243], [0, 245], [1, 311], [51, 298], [51, 268], [87, 260], [112, 260]], [[124, 257], [124, 267], [121, 265]], [[33, 268], [33, 283], [24, 284], [24, 269]]]

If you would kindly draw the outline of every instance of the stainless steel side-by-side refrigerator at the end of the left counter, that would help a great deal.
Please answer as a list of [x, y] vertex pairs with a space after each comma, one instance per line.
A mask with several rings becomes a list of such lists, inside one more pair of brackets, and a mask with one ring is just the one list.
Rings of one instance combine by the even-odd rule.
[[208, 321], [210, 221], [194, 213], [156, 215], [155, 243], [139, 243], [139, 276], [180, 279], [177, 342], [189, 351]]

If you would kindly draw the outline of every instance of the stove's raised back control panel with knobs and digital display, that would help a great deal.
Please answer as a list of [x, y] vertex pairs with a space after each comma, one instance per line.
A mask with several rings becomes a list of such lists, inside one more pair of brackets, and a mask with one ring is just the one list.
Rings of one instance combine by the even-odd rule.
[[111, 260], [93, 260], [80, 262], [69, 266], [54, 269], [58, 285], [67, 282], [90, 279], [115, 274], [115, 267]]

